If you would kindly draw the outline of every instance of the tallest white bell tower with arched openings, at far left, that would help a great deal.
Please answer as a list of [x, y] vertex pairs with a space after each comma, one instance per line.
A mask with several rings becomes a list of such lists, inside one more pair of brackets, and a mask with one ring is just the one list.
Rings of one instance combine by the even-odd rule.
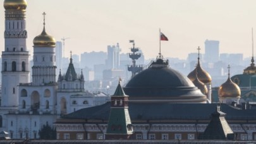
[[2, 52], [1, 106], [18, 106], [18, 86], [29, 82], [30, 62], [26, 45], [27, 1], [4, 1], [5, 31]]

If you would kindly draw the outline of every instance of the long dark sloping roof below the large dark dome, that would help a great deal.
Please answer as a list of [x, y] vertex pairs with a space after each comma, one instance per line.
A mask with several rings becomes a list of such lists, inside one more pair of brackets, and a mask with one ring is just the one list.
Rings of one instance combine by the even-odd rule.
[[[63, 116], [70, 119], [102, 119], [107, 121], [111, 109], [111, 102], [80, 109]], [[210, 114], [215, 111], [216, 104], [192, 104], [192, 103], [140, 103], [129, 102], [131, 121], [161, 120], [161, 119], [210, 119]], [[238, 109], [227, 104], [221, 104], [221, 110], [227, 114], [226, 119], [256, 119], [254, 109]]]

